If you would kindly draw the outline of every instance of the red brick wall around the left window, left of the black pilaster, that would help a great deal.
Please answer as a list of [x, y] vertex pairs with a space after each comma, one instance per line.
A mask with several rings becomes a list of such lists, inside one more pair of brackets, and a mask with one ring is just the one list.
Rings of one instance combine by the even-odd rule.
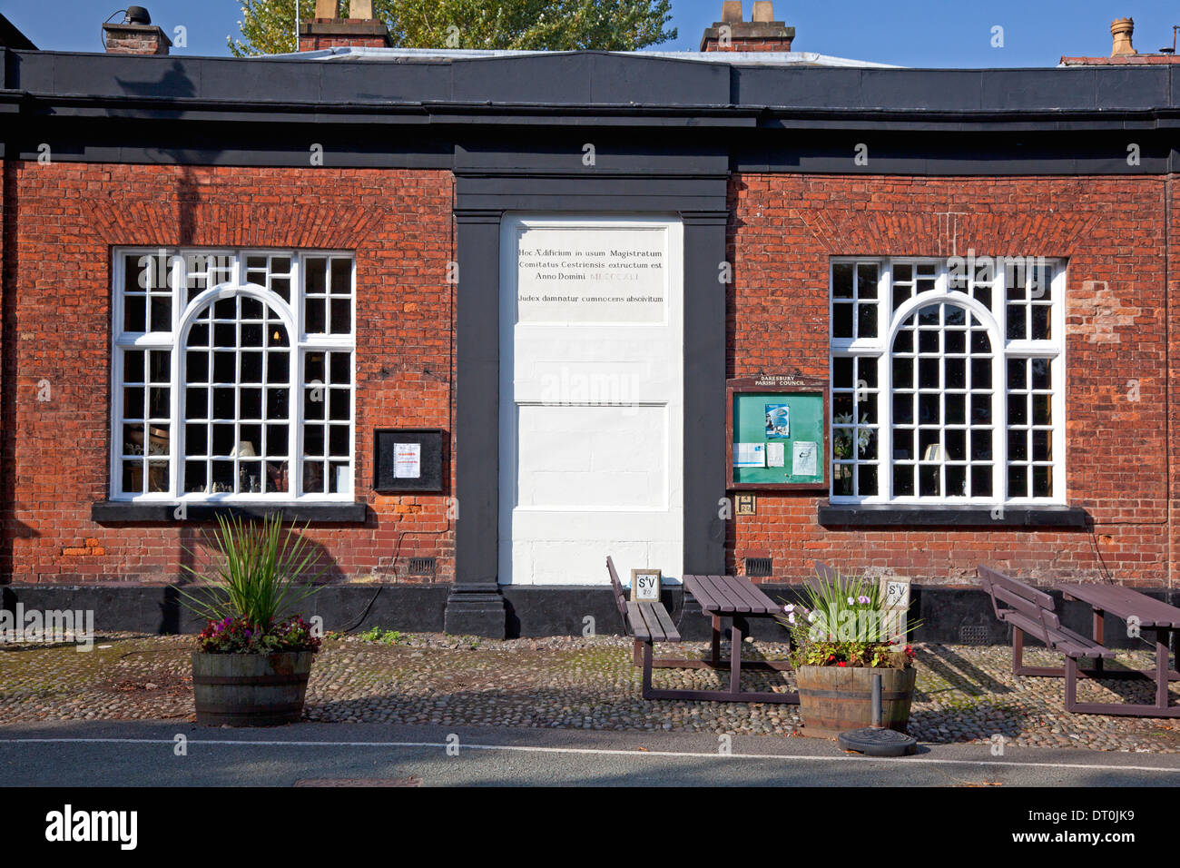
[[[402, 580], [412, 555], [438, 556], [437, 577], [453, 579], [450, 492], [368, 489], [374, 428], [451, 430], [450, 172], [35, 162], [7, 171], [15, 196], [6, 197], [4, 265], [15, 300], [4, 324], [2, 376], [13, 384], [4, 436], [13, 461], [0, 581], [165, 581], [185, 547], [199, 548], [194, 526], [90, 520], [107, 495], [111, 248], [123, 244], [355, 250], [355, 479], [371, 518], [307, 536], [337, 579]], [[37, 400], [41, 379], [47, 403]]]

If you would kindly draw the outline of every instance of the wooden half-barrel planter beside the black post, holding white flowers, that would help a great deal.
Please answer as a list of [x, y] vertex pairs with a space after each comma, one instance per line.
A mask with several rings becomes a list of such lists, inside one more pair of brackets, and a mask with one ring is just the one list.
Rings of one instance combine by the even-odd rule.
[[835, 738], [846, 730], [872, 726], [873, 673], [881, 677], [881, 725], [905, 732], [917, 670], [800, 666], [796, 680], [802, 735]]

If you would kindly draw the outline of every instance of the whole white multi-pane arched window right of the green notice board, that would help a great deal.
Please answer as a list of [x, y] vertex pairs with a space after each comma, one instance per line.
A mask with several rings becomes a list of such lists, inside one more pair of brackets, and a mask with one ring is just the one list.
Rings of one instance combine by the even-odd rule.
[[832, 265], [832, 500], [1061, 502], [1064, 268]]

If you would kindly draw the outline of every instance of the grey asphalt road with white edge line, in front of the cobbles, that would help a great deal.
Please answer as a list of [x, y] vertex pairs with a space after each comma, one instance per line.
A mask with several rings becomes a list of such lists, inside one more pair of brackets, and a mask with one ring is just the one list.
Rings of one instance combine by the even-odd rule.
[[[183, 736], [184, 739], [178, 739]], [[178, 755], [183, 743], [185, 752]], [[450, 750], [448, 750], [450, 746]], [[417, 778], [424, 787], [1176, 787], [1180, 756], [922, 745], [873, 759], [833, 742], [577, 730], [179, 722], [0, 726], [2, 787], [270, 785]]]

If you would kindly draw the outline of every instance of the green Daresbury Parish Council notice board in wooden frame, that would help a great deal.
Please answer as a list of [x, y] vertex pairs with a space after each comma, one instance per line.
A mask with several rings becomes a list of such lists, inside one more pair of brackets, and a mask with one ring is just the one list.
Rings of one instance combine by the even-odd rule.
[[730, 380], [729, 488], [827, 488], [827, 384], [789, 374]]

